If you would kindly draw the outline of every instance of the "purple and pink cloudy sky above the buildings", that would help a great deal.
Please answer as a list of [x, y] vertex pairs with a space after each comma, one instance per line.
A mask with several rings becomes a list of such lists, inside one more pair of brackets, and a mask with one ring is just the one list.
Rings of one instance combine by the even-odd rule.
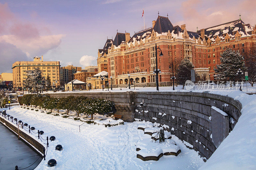
[[[156, 3], [157, 2], [157, 3]], [[241, 19], [256, 24], [255, 0], [0, 0], [0, 73], [16, 61], [60, 61], [84, 68], [97, 65], [98, 49], [116, 30], [130, 33], [167, 16], [189, 31]]]

